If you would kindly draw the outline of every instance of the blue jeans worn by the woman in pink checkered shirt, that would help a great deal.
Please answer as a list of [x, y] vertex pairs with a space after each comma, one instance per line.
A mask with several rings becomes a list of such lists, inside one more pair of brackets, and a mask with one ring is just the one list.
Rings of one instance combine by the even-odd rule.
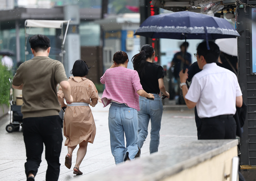
[[134, 160], [139, 151], [137, 130], [137, 110], [125, 104], [112, 102], [109, 108], [109, 133], [111, 152], [114, 156], [115, 164], [122, 163], [127, 157], [130, 160]]

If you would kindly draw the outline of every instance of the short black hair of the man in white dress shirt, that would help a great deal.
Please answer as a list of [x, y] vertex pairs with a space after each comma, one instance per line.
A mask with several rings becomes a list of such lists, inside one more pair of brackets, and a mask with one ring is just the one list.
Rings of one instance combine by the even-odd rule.
[[218, 61], [220, 54], [219, 47], [216, 43], [209, 41], [209, 50], [207, 49], [207, 43], [204, 41], [197, 46], [197, 54], [203, 56], [207, 64]]

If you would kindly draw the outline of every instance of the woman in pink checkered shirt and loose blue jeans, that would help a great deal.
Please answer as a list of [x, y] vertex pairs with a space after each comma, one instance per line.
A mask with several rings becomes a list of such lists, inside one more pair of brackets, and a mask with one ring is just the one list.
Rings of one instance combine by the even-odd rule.
[[140, 148], [137, 146], [139, 96], [152, 99], [154, 96], [142, 89], [138, 73], [127, 69], [129, 59], [125, 52], [114, 53], [113, 61], [114, 64], [106, 70], [100, 82], [106, 86], [102, 95], [104, 107], [111, 103], [110, 146], [115, 164], [118, 164], [140, 156]]

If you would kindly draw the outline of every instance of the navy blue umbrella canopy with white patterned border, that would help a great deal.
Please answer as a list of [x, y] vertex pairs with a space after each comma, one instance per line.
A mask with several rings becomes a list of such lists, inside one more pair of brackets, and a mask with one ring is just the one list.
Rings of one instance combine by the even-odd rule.
[[150, 16], [134, 35], [180, 40], [240, 37], [227, 20], [190, 11]]

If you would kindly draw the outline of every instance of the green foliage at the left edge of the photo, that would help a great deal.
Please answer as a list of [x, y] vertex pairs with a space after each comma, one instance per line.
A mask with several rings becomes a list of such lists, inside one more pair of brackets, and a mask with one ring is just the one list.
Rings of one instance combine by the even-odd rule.
[[12, 72], [7, 67], [0, 64], [0, 106], [4, 104], [9, 106], [10, 99], [10, 82], [9, 78], [12, 79]]

